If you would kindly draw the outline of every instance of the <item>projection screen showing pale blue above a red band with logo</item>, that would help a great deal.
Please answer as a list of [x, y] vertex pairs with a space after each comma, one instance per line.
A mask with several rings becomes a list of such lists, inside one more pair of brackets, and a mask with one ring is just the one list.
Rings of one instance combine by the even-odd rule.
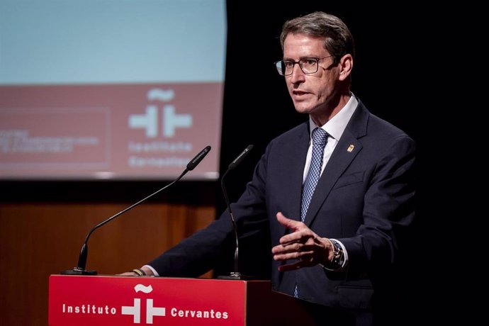
[[1, 0], [0, 179], [217, 179], [223, 0]]

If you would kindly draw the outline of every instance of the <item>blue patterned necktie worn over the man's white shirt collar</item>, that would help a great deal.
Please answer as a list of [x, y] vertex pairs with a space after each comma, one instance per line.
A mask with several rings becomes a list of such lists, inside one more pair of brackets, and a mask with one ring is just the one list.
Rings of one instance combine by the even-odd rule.
[[[313, 157], [310, 160], [308, 175], [302, 187], [302, 206], [300, 208], [300, 220], [304, 222], [305, 213], [308, 213], [310, 199], [313, 198], [314, 189], [321, 175], [322, 157], [325, 152], [327, 133], [321, 128], [313, 130]], [[294, 288], [293, 296], [298, 298], [297, 285]]]

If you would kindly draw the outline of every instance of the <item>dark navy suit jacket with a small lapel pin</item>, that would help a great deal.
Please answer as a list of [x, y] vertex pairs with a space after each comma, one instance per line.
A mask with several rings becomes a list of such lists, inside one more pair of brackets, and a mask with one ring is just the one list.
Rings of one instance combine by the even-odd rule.
[[[232, 212], [240, 241], [253, 242], [266, 232], [256, 250], [269, 251], [286, 230], [276, 221], [281, 211], [300, 218], [301, 188], [310, 131], [308, 122], [272, 140], [252, 181]], [[348, 149], [351, 150], [348, 150]], [[413, 164], [415, 143], [402, 130], [373, 116], [359, 102], [315, 189], [305, 224], [321, 237], [341, 241], [349, 264], [342, 273], [320, 266], [279, 272], [270, 259], [277, 291], [334, 308], [372, 308], [373, 295], [388, 279], [397, 259], [400, 237], [415, 214]], [[160, 276], [198, 276], [212, 269], [222, 245], [234, 236], [230, 216], [223, 213], [206, 229], [149, 264]], [[263, 239], [263, 237], [257, 237]], [[232, 244], [232, 242], [230, 242]]]

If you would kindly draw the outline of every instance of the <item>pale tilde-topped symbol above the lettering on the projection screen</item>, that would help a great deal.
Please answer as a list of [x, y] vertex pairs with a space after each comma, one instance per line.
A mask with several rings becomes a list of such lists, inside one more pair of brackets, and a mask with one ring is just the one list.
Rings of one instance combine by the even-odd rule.
[[[175, 97], [173, 89], [150, 89], [147, 99], [150, 101], [169, 102]], [[159, 119], [161, 118], [161, 131], [159, 130]], [[129, 116], [129, 128], [145, 130], [148, 138], [157, 137], [161, 132], [163, 137], [174, 137], [178, 128], [191, 128], [192, 116], [190, 114], [176, 113], [175, 106], [163, 104], [161, 108], [150, 104], [146, 106], [145, 114], [131, 114]]]

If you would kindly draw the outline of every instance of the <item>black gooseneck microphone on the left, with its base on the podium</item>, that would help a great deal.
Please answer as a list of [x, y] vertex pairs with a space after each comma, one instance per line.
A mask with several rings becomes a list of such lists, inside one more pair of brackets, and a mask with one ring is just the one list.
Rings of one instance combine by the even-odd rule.
[[121, 214], [127, 212], [128, 210], [130, 210], [131, 208], [139, 205], [143, 201], [146, 201], [148, 198], [156, 195], [160, 191], [162, 191], [164, 189], [167, 189], [169, 186], [172, 186], [172, 184], [176, 183], [176, 181], [179, 181], [187, 172], [192, 171], [193, 169], [195, 169], [196, 166], [202, 161], [202, 159], [204, 157], [206, 157], [206, 155], [207, 155], [208, 152], [210, 152], [210, 146], [207, 146], [206, 148], [204, 148], [203, 150], [201, 150], [201, 152], [199, 152], [196, 155], [196, 157], [193, 157], [193, 159], [187, 164], [186, 169], [184, 169], [184, 172], [181, 172], [181, 174], [179, 175], [179, 177], [176, 178], [174, 181], [172, 181], [170, 184], [167, 184], [167, 186], [164, 186], [162, 189], [159, 189], [158, 191], [155, 191], [150, 196], [147, 196], [145, 198], [142, 198], [137, 203], [134, 203], [133, 205], [129, 206], [128, 208], [125, 208], [125, 209], [121, 210], [116, 215], [113, 215], [110, 218], [108, 218], [108, 219], [104, 220], [103, 222], [101, 222], [101, 223], [95, 225], [94, 227], [92, 227], [91, 230], [90, 230], [90, 232], [89, 232], [89, 234], [86, 235], [85, 242], [84, 242], [83, 246], [81, 246], [81, 251], [80, 251], [80, 254], [79, 254], [79, 257], [78, 257], [78, 265], [77, 265], [77, 267], [74, 267], [74, 269], [67, 269], [65, 271], [62, 271], [61, 274], [62, 275], [96, 275], [97, 274], [96, 271], [87, 271], [85, 269], [85, 266], [86, 266], [86, 257], [87, 257], [88, 252], [89, 252], [88, 242], [89, 242], [90, 235], [96, 229], [98, 229], [99, 227], [101, 227], [102, 225], [110, 222], [114, 218], [117, 218], [119, 215], [121, 215]]

